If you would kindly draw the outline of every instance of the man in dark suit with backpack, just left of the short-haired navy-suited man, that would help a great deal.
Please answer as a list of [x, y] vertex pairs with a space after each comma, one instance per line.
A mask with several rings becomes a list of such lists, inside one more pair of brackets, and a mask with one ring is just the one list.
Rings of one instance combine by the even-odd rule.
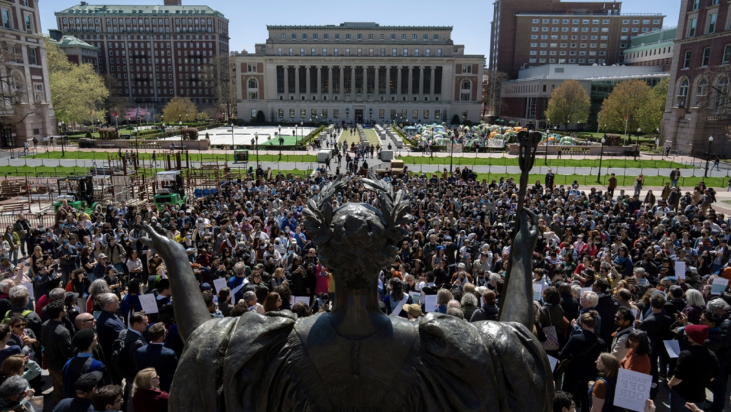
[[[115, 373], [124, 377], [127, 382], [124, 386], [124, 403], [132, 397], [132, 382], [137, 375], [137, 349], [147, 345], [143, 333], [149, 326], [147, 315], [144, 312], [135, 312], [129, 316], [129, 329], [120, 332], [119, 337], [112, 344], [112, 367]], [[128, 404], [129, 405], [129, 404]]]

